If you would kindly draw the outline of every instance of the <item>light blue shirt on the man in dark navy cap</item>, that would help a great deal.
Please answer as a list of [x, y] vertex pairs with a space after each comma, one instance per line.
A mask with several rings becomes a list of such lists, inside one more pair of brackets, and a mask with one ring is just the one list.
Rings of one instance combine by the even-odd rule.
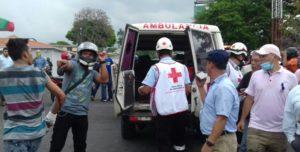
[[225, 130], [236, 132], [239, 114], [239, 97], [234, 84], [227, 74], [215, 79], [206, 95], [203, 109], [200, 111], [200, 128], [205, 135], [210, 135], [218, 115], [227, 117]]

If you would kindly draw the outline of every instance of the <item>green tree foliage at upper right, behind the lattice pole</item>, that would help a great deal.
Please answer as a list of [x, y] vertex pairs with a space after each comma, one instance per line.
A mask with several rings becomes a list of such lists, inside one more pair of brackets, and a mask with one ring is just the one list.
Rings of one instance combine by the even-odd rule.
[[[197, 14], [196, 22], [217, 25], [227, 44], [240, 41], [250, 49], [271, 42], [271, 0], [217, 0], [207, 11]], [[283, 0], [284, 40], [299, 44], [300, 1]]]

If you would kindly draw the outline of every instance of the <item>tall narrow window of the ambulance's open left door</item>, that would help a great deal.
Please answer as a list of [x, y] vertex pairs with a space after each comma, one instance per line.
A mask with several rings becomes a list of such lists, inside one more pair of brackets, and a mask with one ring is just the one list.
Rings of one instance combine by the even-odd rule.
[[135, 46], [137, 43], [137, 36], [137, 31], [129, 29], [122, 60], [122, 71], [131, 70], [133, 67], [133, 58]]

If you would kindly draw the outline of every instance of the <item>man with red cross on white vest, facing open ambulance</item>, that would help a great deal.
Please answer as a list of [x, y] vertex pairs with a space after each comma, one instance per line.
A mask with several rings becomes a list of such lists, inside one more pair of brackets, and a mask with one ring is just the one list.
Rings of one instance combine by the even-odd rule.
[[148, 71], [138, 91], [150, 94], [150, 105], [155, 116], [158, 151], [185, 151], [185, 127], [188, 124], [190, 90], [187, 67], [171, 58], [173, 45], [163, 37], [157, 41], [159, 63]]

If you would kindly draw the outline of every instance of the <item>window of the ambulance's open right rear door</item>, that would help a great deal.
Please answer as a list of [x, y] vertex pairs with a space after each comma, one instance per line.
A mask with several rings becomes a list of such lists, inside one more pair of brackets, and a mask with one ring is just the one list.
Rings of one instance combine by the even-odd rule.
[[192, 38], [197, 58], [198, 71], [206, 71], [205, 65], [207, 52], [214, 49], [211, 35], [209, 33], [193, 30]]

